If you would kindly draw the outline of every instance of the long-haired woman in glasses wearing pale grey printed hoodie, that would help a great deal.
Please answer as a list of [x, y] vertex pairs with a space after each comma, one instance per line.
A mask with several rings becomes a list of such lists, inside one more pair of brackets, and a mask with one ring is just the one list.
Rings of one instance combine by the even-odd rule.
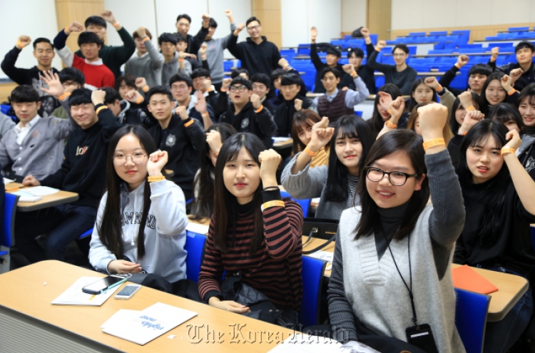
[[156, 150], [143, 126], [127, 125], [111, 138], [107, 193], [98, 207], [89, 262], [98, 271], [144, 270], [169, 282], [185, 280], [185, 198], [161, 170], [167, 152]]

